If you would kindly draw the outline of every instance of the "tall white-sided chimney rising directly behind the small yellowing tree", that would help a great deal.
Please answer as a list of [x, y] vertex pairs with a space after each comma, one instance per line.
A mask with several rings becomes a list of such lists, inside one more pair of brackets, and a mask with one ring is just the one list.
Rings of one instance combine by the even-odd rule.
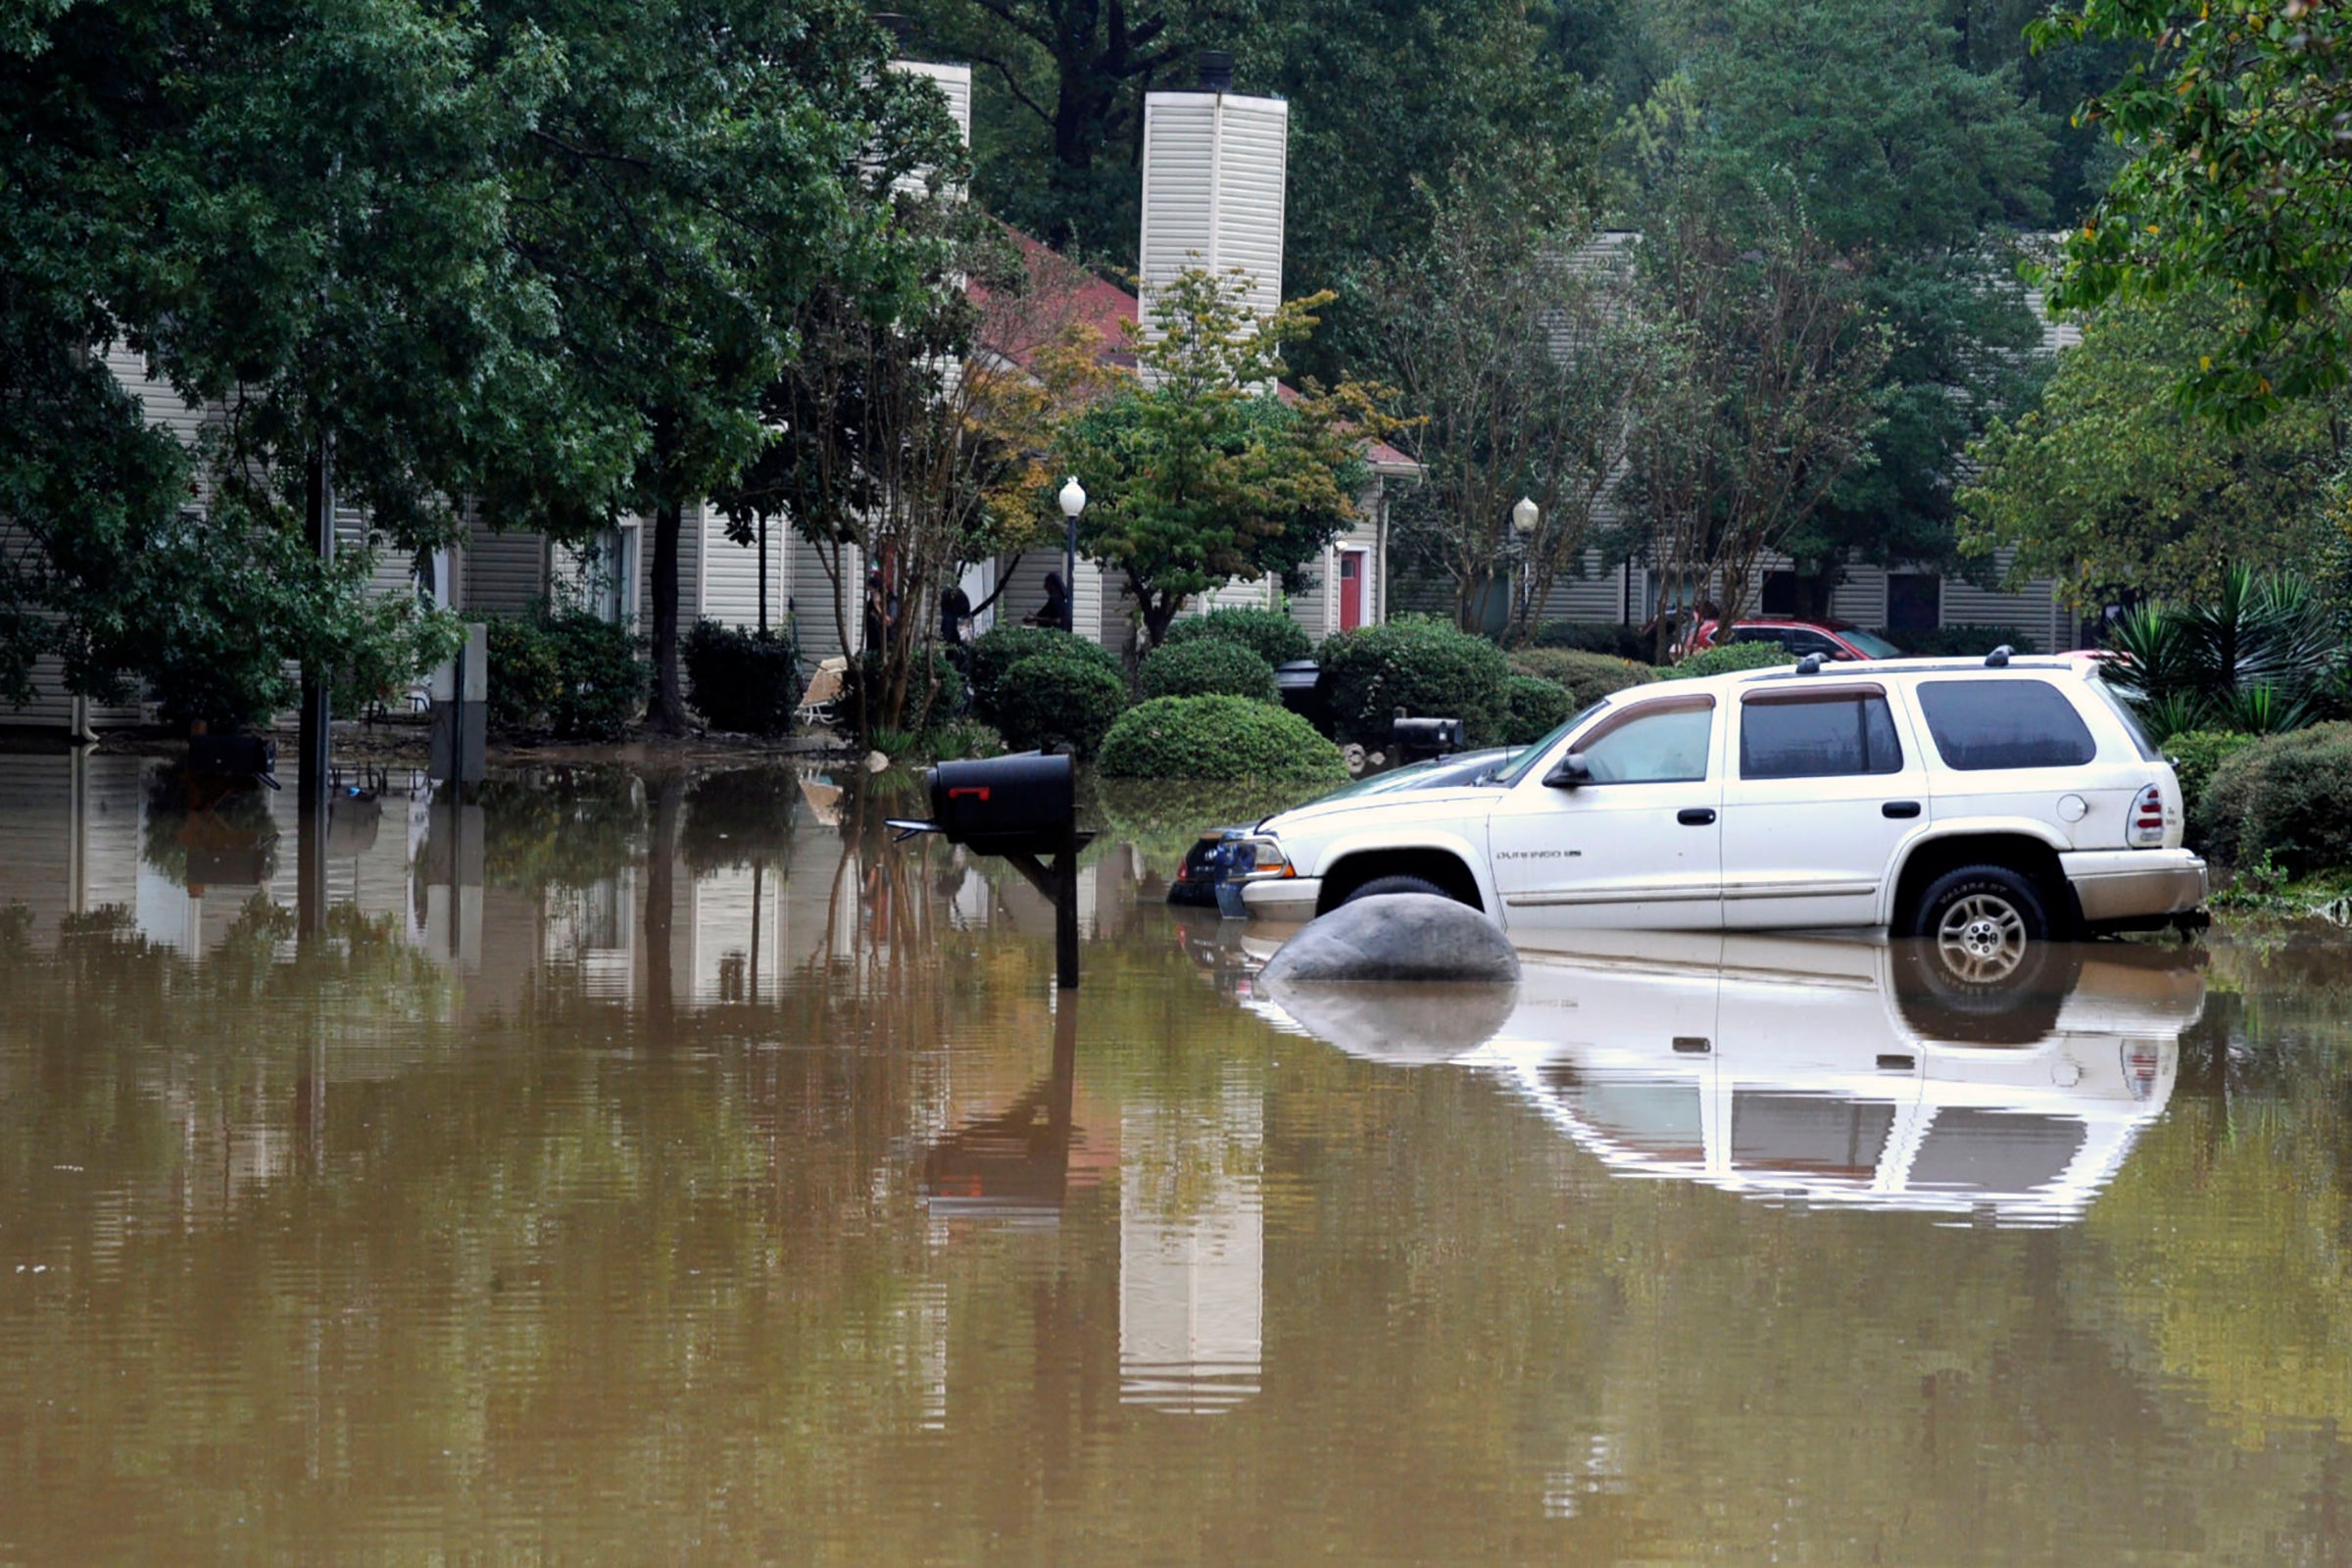
[[1282, 303], [1291, 106], [1232, 92], [1232, 56], [1202, 54], [1202, 85], [1143, 99], [1143, 315], [1188, 266], [1249, 273], [1249, 303]]

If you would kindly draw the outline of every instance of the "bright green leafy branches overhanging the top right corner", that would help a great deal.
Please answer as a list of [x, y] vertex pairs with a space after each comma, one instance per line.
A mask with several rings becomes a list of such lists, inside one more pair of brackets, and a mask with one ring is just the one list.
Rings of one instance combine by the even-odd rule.
[[2178, 381], [2190, 407], [2232, 428], [2345, 386], [2352, 14], [2314, 0], [2213, 0], [2194, 12], [2171, 0], [2060, 0], [2032, 38], [2140, 54], [2079, 108], [2129, 162], [2067, 237], [2051, 303], [2084, 310], [2209, 284], [2244, 292], [2244, 331]]

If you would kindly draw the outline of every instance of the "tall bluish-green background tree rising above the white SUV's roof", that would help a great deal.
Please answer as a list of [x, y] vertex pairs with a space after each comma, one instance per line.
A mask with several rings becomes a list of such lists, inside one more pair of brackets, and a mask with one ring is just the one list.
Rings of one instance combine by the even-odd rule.
[[1823, 266], [1891, 329], [1872, 461], [1778, 548], [1816, 609], [1849, 559], [1950, 559], [1962, 451], [2039, 374], [2013, 235], [2049, 216], [2044, 118], [2013, 63], [1971, 68], [1936, 0], [1733, 0], [1689, 21], [1682, 71], [1628, 136], [1642, 188], [1675, 188], [1661, 158], [1719, 188], [1792, 183]]

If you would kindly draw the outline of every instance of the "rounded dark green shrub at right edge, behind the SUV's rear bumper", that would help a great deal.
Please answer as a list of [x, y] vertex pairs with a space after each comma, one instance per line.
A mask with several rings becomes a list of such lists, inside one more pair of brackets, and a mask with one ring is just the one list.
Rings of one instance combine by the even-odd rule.
[[2213, 769], [2197, 827], [2213, 858], [2291, 877], [2352, 865], [2352, 724], [2265, 736]]

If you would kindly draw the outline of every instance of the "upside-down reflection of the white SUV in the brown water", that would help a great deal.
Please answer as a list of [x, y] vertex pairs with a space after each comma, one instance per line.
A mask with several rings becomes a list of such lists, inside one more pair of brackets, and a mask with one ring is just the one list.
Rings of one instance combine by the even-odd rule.
[[1355, 1056], [1498, 1072], [1623, 1175], [2049, 1222], [2164, 1112], [2204, 973], [2180, 947], [2044, 952], [1955, 1006], [1931, 943], [1595, 933], [1489, 987], [1501, 1013], [1463, 994], [1414, 1039], [1364, 987], [1256, 1006]]

